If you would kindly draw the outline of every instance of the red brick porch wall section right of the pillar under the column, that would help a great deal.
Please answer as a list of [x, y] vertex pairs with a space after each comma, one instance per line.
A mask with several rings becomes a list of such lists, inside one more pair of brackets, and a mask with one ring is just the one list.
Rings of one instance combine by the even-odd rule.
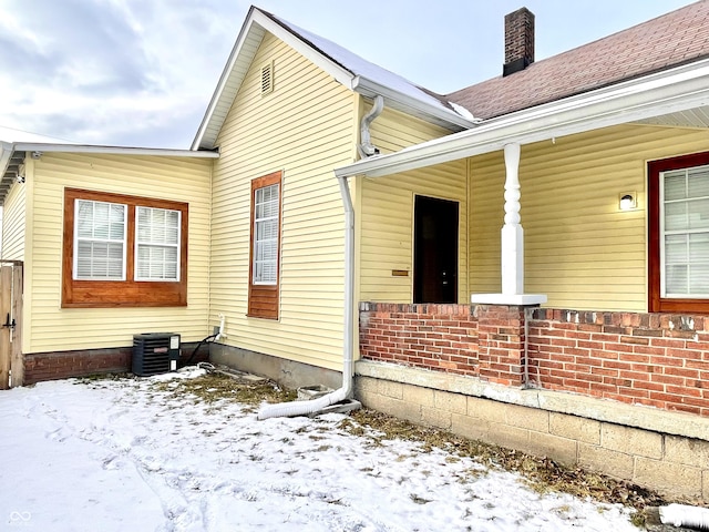
[[530, 380], [709, 416], [709, 317], [535, 309]]

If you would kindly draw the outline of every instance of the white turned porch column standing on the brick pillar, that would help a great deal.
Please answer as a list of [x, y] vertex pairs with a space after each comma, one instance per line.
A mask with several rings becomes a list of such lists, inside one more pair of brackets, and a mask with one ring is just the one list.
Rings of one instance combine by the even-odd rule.
[[505, 144], [505, 224], [502, 227], [502, 293], [524, 294], [524, 229], [520, 218], [520, 144]]

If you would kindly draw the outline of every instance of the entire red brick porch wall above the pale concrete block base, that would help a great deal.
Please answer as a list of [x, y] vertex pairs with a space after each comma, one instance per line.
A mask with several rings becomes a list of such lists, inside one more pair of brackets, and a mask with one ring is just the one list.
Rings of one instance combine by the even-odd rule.
[[363, 359], [709, 417], [709, 317], [360, 304]]

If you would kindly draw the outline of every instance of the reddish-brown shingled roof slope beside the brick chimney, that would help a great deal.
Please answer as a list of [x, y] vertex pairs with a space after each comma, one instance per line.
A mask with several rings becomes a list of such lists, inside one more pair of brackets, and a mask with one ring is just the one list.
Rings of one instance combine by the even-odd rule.
[[491, 119], [709, 57], [709, 0], [445, 96]]

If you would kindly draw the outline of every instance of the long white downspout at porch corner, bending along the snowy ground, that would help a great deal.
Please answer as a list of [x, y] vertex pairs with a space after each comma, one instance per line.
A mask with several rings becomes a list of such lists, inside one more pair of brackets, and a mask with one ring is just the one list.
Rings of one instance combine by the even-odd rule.
[[342, 387], [309, 401], [279, 402], [265, 405], [258, 411], [257, 418], [279, 418], [316, 415], [325, 408], [349, 399], [352, 393], [352, 375], [354, 356], [352, 342], [354, 340], [352, 326], [354, 325], [354, 207], [347, 177], [338, 177], [342, 204], [345, 205], [345, 346], [342, 355]]

